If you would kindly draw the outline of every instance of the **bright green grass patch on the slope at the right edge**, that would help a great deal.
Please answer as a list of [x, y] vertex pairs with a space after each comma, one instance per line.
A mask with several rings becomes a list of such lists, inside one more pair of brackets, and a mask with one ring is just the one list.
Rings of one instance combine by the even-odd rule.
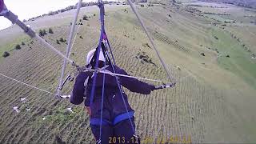
[[[218, 58], [218, 64], [237, 74], [256, 89], [256, 63], [251, 60], [250, 54], [242, 47], [242, 43], [221, 30], [212, 32], [218, 37], [218, 40], [214, 40], [213, 46], [222, 54]], [[227, 54], [230, 58], [226, 58]]]

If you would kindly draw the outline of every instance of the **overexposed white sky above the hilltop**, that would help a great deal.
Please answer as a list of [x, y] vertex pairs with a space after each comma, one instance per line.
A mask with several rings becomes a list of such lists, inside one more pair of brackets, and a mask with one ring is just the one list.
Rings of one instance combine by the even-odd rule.
[[[23, 19], [33, 18], [38, 15], [48, 14], [50, 11], [60, 10], [67, 6], [75, 5], [78, 0], [4, 0], [8, 10]], [[82, 2], [95, 2], [96, 0], [83, 0]], [[11, 26], [11, 22], [0, 17], [0, 30]]]

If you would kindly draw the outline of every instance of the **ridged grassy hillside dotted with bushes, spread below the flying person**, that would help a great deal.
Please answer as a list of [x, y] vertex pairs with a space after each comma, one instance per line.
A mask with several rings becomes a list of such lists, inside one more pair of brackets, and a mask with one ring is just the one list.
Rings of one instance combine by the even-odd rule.
[[[146, 96], [126, 90], [136, 111], [136, 130], [142, 140], [151, 138], [155, 142], [162, 138], [172, 143], [182, 143], [183, 138], [193, 143], [256, 142], [256, 60], [251, 58], [256, 50], [256, 25], [250, 23], [253, 18], [243, 19], [243, 14], [253, 12], [219, 3], [223, 8], [210, 7], [213, 3], [206, 2], [191, 6], [194, 3], [138, 5], [178, 85]], [[214, 18], [209, 14], [206, 17], [204, 12], [214, 13], [210, 14]], [[224, 12], [230, 15], [218, 15]], [[239, 13], [237, 17], [234, 12]], [[66, 43], [57, 44], [56, 40], [67, 39], [73, 13], [70, 10], [28, 23], [37, 31], [52, 28], [54, 34], [46, 34], [44, 39], [64, 53]], [[90, 18], [78, 25], [70, 55], [81, 65], [85, 64], [86, 53], [98, 45], [99, 37], [98, 8], [82, 8], [79, 18], [83, 14]], [[221, 17], [236, 23], [219, 22]], [[166, 81], [146, 34], [128, 6], [106, 6], [106, 32], [118, 66], [134, 76]], [[14, 50], [17, 44], [21, 50]], [[17, 26], [0, 31], [0, 52], [3, 51], [10, 52], [10, 56], [0, 58], [1, 74], [55, 92], [62, 58], [26, 37]], [[154, 64], [139, 59], [138, 54], [142, 53]], [[66, 73], [70, 70], [72, 67], [68, 66]], [[0, 143], [94, 142], [83, 106], [73, 106], [68, 100], [3, 77], [0, 83]], [[66, 85], [65, 94], [72, 86], [72, 82]], [[21, 102], [20, 98], [25, 97], [26, 102]], [[20, 113], [13, 110], [14, 106]], [[68, 107], [73, 107], [74, 113], [66, 110]]]

